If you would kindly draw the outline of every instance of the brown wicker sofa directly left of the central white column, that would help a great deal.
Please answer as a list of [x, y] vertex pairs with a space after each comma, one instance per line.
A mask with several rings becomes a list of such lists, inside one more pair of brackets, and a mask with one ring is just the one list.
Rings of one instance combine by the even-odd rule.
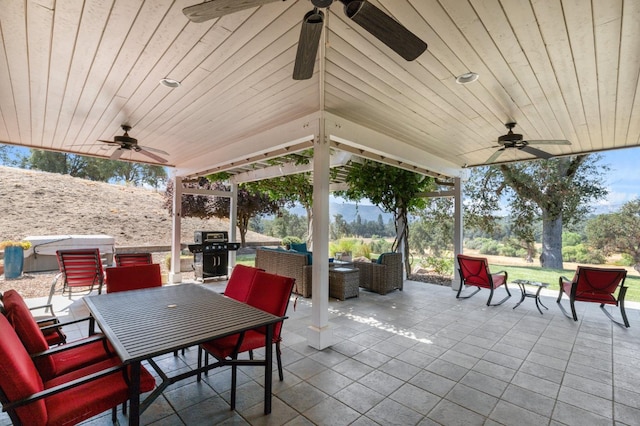
[[291, 277], [296, 280], [294, 293], [302, 297], [311, 297], [311, 275], [313, 266], [309, 265], [307, 255], [282, 249], [256, 250], [256, 268], [272, 274]]

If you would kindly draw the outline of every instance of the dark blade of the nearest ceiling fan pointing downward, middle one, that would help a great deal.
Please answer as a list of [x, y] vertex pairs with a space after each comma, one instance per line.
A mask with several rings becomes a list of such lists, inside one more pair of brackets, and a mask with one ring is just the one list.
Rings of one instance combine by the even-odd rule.
[[313, 75], [323, 23], [324, 13], [317, 8], [304, 15], [300, 28], [296, 63], [293, 67], [294, 80], [308, 80]]

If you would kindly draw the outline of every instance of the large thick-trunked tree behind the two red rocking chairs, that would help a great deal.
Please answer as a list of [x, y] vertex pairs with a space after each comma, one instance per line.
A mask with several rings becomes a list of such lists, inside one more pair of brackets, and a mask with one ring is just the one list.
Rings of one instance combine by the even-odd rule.
[[541, 266], [562, 269], [563, 224], [580, 220], [593, 200], [607, 194], [602, 178], [609, 168], [598, 160], [598, 155], [578, 155], [478, 168], [466, 187], [472, 198], [467, 220], [490, 226], [506, 199], [525, 241], [531, 241], [535, 220], [542, 220]]

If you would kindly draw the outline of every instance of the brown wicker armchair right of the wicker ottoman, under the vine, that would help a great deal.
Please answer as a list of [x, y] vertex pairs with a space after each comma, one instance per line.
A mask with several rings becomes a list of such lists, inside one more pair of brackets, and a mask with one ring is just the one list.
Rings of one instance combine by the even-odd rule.
[[360, 287], [379, 294], [402, 291], [402, 254], [384, 253], [380, 263], [353, 262], [360, 270]]

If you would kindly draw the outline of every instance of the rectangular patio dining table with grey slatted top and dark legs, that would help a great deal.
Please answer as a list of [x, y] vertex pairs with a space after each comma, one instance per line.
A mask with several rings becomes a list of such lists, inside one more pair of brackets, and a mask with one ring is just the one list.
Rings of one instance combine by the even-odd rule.
[[[131, 366], [129, 424], [172, 383], [220, 365], [263, 365], [264, 413], [271, 412], [272, 337], [274, 324], [284, 320], [197, 284], [180, 284], [88, 296], [91, 315], [123, 363]], [[228, 360], [168, 377], [153, 357], [198, 345], [208, 340], [265, 327], [264, 360]], [[140, 370], [147, 361], [162, 383], [140, 401]]]

